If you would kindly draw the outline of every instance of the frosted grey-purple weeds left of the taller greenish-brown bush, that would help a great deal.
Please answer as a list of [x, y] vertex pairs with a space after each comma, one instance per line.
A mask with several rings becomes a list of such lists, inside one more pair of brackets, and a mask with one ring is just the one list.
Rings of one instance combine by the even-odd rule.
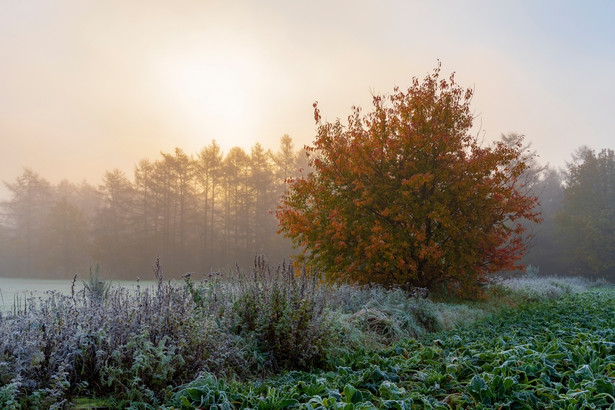
[[211, 352], [227, 347], [201, 333], [207, 323], [193, 315], [185, 288], [101, 289], [51, 292], [0, 317], [0, 382], [12, 386], [2, 397], [12, 392], [26, 407], [49, 407], [111, 392], [161, 403], [167, 386], [192, 380]]

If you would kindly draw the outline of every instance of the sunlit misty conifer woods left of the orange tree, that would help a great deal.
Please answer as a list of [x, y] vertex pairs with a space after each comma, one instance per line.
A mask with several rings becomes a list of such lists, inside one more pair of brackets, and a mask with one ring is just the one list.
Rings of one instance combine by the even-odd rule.
[[[132, 178], [114, 169], [102, 183], [53, 185], [31, 169], [5, 182], [0, 275], [71, 277], [101, 264], [110, 277], [211, 272], [256, 254], [288, 257], [273, 211], [286, 181], [307, 169], [284, 135], [277, 152], [259, 143], [224, 154], [212, 141], [196, 155], [176, 148], [141, 160]], [[144, 276], [145, 275], [145, 276]]]

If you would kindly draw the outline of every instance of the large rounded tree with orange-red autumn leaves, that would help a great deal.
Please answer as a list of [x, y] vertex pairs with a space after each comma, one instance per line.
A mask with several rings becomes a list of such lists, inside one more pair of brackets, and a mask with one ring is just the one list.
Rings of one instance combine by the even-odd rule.
[[333, 281], [468, 295], [515, 267], [537, 199], [517, 188], [520, 143], [481, 147], [469, 133], [471, 97], [438, 66], [407, 92], [374, 96], [367, 115], [353, 107], [347, 126], [322, 122], [315, 103], [313, 171], [289, 184], [280, 231]]

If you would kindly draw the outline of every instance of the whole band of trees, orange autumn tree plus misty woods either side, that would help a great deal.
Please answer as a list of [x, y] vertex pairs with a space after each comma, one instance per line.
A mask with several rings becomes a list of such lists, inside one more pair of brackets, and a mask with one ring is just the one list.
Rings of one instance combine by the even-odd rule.
[[558, 170], [518, 134], [482, 146], [468, 133], [472, 90], [438, 76], [396, 89], [390, 105], [375, 96], [347, 125], [322, 122], [315, 105], [314, 146], [299, 150], [288, 135], [277, 152], [225, 154], [212, 141], [141, 160], [132, 177], [105, 172], [99, 186], [25, 169], [0, 203], [0, 276], [67, 278], [100, 263], [135, 279], [157, 257], [172, 274], [207, 273], [257, 254], [281, 261], [292, 240], [297, 260], [365, 284], [470, 294], [523, 265], [615, 280], [614, 151], [581, 147]]

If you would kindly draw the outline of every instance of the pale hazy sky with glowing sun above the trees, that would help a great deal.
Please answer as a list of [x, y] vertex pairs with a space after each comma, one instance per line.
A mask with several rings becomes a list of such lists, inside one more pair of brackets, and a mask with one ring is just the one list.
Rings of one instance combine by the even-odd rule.
[[[276, 150], [438, 64], [485, 143], [615, 148], [615, 2], [0, 0], [0, 180], [97, 185], [175, 147]], [[0, 197], [7, 195], [0, 188]]]

